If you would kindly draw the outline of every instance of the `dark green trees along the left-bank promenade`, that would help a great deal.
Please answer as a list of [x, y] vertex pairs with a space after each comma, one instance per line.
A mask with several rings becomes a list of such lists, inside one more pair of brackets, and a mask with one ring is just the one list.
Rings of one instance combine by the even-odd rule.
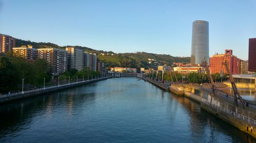
[[[53, 76], [49, 72], [49, 64], [44, 59], [26, 60], [21, 57], [13, 57], [10, 55], [0, 56], [0, 94], [10, 91], [22, 90], [22, 82], [24, 79], [24, 89], [38, 88], [56, 85], [60, 82], [76, 81], [76, 78], [89, 79], [100, 76], [99, 72], [91, 71], [89, 67], [83, 68], [81, 71], [70, 69], [58, 76]], [[59, 78], [58, 78], [59, 77]]]

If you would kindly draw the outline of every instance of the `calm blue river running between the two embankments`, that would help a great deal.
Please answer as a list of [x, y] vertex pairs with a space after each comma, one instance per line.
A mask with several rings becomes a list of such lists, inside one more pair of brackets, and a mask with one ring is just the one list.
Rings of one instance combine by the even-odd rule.
[[251, 142], [198, 103], [112, 78], [0, 106], [0, 142]]

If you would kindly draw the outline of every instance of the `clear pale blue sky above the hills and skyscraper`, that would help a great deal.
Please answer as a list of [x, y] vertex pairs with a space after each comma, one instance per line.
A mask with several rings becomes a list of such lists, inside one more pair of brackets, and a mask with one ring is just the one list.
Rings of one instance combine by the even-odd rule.
[[60, 46], [190, 56], [192, 22], [209, 22], [210, 56], [248, 59], [256, 1], [0, 0], [0, 33]]

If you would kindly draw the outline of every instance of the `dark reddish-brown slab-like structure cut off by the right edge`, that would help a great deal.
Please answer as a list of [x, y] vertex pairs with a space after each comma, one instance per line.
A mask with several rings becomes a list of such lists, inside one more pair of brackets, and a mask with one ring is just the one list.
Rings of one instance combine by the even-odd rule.
[[256, 38], [249, 39], [248, 71], [256, 72]]

